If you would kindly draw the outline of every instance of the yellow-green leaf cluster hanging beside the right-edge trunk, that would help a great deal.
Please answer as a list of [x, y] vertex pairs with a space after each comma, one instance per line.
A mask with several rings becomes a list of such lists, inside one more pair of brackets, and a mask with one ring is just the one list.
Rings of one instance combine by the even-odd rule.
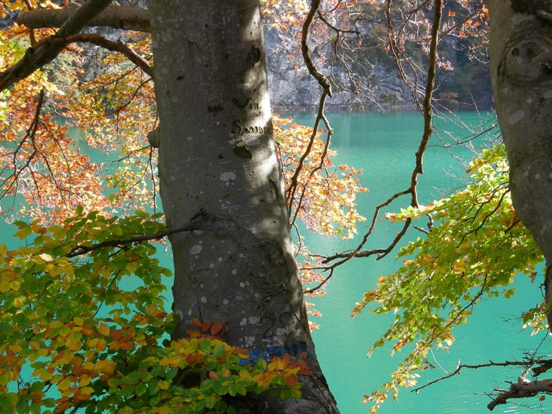
[[[395, 314], [371, 353], [386, 343], [393, 344], [392, 354], [410, 344], [391, 380], [366, 396], [375, 408], [389, 393], [396, 397], [398, 386], [416, 384], [416, 371], [432, 367], [426, 359], [430, 348], [450, 346], [453, 328], [467, 322], [482, 298], [511, 297], [515, 277], [528, 275], [534, 280], [542, 262], [540, 249], [511, 204], [504, 146], [483, 150], [467, 172], [473, 182], [465, 190], [428, 206], [387, 215], [391, 221], [432, 215], [435, 225], [426, 237], [400, 250], [402, 266], [380, 277], [377, 287], [364, 293], [353, 310], [353, 316], [366, 306], [373, 313]], [[532, 310], [525, 322], [538, 319], [541, 311]]]

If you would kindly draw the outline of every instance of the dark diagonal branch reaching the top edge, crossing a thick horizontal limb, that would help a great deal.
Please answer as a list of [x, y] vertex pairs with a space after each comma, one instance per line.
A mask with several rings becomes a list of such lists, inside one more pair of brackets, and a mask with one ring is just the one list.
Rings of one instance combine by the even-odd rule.
[[66, 46], [63, 37], [77, 34], [110, 3], [111, 0], [88, 0], [84, 3], [61, 25], [54, 36], [28, 48], [20, 61], [0, 73], [0, 91], [10, 88], [14, 83], [32, 75], [35, 70], [54, 60]]

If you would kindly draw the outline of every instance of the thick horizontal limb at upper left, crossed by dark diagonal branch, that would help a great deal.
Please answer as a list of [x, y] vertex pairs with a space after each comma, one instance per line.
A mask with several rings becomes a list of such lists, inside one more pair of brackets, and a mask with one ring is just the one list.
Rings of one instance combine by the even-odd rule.
[[[19, 14], [17, 23], [30, 29], [59, 28], [77, 12], [78, 8], [32, 10]], [[150, 31], [150, 12], [124, 6], [110, 6], [88, 21], [87, 27], [108, 26], [110, 28]]]

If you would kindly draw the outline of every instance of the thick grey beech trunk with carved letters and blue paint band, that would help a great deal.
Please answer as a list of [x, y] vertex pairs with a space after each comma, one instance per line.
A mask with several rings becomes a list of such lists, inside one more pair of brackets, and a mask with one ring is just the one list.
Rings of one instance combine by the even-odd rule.
[[173, 310], [222, 322], [252, 359], [308, 355], [302, 399], [230, 401], [240, 413], [337, 413], [308, 330], [273, 141], [257, 0], [150, 2], [159, 177], [170, 237]]

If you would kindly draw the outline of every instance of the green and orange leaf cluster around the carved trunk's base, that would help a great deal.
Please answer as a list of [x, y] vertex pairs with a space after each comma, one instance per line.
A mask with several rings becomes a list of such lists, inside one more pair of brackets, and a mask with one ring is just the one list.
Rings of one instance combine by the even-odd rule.
[[[9, 412], [232, 413], [228, 395], [269, 392], [299, 397], [290, 356], [243, 364], [248, 353], [224, 342], [220, 324], [169, 339], [162, 277], [170, 276], [148, 242], [130, 239], [163, 228], [160, 215], [99, 213], [61, 225], [18, 221], [28, 246], [0, 246], [0, 404]], [[138, 284], [138, 286], [137, 286]], [[44, 411], [46, 409], [46, 411]]]

